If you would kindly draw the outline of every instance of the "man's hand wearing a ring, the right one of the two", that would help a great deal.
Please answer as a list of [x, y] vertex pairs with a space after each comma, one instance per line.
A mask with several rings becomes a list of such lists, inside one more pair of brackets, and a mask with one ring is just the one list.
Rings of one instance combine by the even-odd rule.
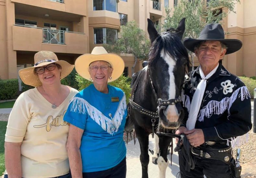
[[198, 147], [199, 145], [204, 143], [204, 133], [202, 129], [192, 129], [184, 132], [186, 134], [189, 143], [193, 147]]

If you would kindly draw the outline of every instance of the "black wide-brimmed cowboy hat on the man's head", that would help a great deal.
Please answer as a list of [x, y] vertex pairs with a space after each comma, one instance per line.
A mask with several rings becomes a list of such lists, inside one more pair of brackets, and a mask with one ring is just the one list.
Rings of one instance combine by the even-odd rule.
[[194, 47], [205, 40], [220, 41], [227, 46], [226, 54], [240, 50], [242, 42], [239, 39], [224, 39], [224, 30], [220, 24], [207, 24], [201, 31], [198, 39], [186, 37], [183, 41], [184, 46], [194, 52]]

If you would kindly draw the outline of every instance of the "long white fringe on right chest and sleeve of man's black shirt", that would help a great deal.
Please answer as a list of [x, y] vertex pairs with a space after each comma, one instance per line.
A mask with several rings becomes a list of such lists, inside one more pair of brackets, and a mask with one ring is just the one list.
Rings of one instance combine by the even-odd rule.
[[232, 104], [235, 102], [237, 99], [237, 95], [239, 94], [239, 98], [241, 98], [241, 101], [243, 101], [245, 98], [248, 99], [250, 98], [250, 93], [246, 86], [242, 86], [238, 88], [230, 97], [225, 97], [221, 101], [215, 101], [212, 100], [210, 101], [206, 106], [204, 106], [199, 113], [198, 120], [199, 121], [204, 121], [204, 117], [211, 117], [213, 114], [223, 114], [227, 109], [228, 109], [228, 117], [230, 116], [229, 109], [232, 106]]

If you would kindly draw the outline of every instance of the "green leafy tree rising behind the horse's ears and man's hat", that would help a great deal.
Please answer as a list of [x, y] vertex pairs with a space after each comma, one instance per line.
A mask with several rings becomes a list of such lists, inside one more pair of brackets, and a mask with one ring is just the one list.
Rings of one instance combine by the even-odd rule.
[[[176, 28], [180, 19], [186, 17], [186, 29], [183, 37], [197, 39], [201, 30], [208, 23], [220, 23], [227, 13], [222, 12], [221, 8], [226, 7], [228, 12], [235, 12], [234, 6], [240, 0], [180, 0], [174, 9], [166, 7], [166, 17], [163, 28]], [[173, 15], [171, 15], [173, 12]], [[195, 54], [189, 51], [194, 66]]]

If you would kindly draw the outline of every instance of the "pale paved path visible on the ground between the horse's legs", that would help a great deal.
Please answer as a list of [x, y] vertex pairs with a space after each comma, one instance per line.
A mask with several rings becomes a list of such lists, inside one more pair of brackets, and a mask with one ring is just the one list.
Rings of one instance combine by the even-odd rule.
[[[173, 148], [175, 148], [175, 144]], [[127, 145], [127, 154], [126, 154], [126, 161], [127, 161], [127, 175], [126, 178], [141, 178], [142, 170], [141, 170], [141, 163], [140, 163], [140, 146], [139, 141], [136, 141], [134, 145], [133, 140], [130, 141]], [[154, 149], [154, 139], [152, 136], [149, 135], [149, 149]], [[152, 154], [149, 153], [149, 164], [148, 164], [148, 177], [149, 178], [158, 178], [158, 166], [152, 163]], [[173, 152], [172, 155], [172, 166], [170, 164], [170, 158], [168, 155], [169, 166], [166, 169], [166, 177], [174, 178], [176, 174], [180, 171], [179, 169], [179, 159], [178, 153]]]

